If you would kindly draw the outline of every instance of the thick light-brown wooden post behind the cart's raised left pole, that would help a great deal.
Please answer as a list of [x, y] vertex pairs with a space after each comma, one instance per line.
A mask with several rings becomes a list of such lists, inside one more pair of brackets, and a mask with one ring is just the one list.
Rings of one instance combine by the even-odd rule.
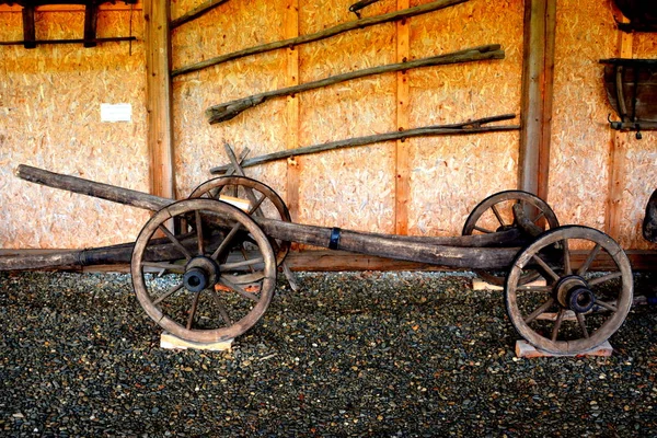
[[148, 149], [151, 194], [175, 198], [171, 111], [169, 1], [146, 0]]

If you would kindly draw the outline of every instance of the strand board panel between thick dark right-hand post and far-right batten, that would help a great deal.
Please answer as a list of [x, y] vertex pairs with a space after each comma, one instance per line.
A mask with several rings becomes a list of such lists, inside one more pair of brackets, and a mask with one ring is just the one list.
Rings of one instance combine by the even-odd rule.
[[563, 0], [556, 13], [548, 201], [561, 223], [604, 229], [611, 135], [599, 60], [615, 56], [618, 30], [597, 0]]

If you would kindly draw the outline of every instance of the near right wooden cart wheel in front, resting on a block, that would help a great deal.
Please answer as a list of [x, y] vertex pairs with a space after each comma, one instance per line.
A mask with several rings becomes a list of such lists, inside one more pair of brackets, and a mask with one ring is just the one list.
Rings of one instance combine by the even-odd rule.
[[[595, 261], [604, 261], [609, 272], [591, 273]], [[520, 285], [528, 268], [541, 270], [548, 286]], [[511, 323], [530, 344], [554, 354], [581, 354], [620, 328], [632, 290], [632, 268], [619, 244], [592, 228], [568, 226], [545, 232], [518, 254], [505, 299]]]

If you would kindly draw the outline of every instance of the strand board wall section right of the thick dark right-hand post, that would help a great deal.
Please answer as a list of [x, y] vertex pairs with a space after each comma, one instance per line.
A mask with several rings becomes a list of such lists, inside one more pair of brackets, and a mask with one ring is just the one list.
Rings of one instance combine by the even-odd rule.
[[[562, 223], [604, 230], [613, 132], [607, 117], [613, 108], [602, 85], [600, 59], [619, 57], [619, 30], [612, 1], [557, 2], [554, 113], [549, 203]], [[633, 57], [657, 58], [657, 35], [634, 34]], [[643, 240], [641, 223], [657, 187], [655, 135], [621, 134], [624, 143], [620, 243], [626, 249], [654, 247]]]

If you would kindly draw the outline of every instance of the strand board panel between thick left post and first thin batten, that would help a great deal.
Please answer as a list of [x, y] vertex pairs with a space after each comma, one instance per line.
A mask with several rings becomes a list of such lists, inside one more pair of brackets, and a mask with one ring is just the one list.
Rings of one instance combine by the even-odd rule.
[[[173, 35], [174, 66], [201, 60], [252, 45], [284, 38], [280, 25], [285, 0], [272, 2], [229, 1]], [[216, 45], [209, 53], [209, 45]], [[207, 51], [207, 53], [206, 53]], [[183, 74], [173, 80], [173, 114], [176, 191], [189, 194], [211, 177], [209, 169], [228, 163], [223, 143], [250, 157], [283, 150], [288, 119], [284, 99], [272, 100], [238, 117], [209, 125], [205, 111], [216, 104], [285, 87], [285, 50], [256, 55]], [[285, 198], [285, 162], [246, 169], [247, 176], [268, 184]]]

